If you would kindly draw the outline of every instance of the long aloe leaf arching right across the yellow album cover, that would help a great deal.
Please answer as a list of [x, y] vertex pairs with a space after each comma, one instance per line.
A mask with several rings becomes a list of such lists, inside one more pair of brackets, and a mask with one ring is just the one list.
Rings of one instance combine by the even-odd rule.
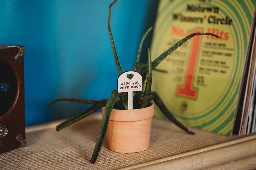
[[[212, 34], [212, 33], [203, 33], [203, 32], [196, 32], [193, 34], [188, 35], [187, 37], [183, 38], [182, 40], [178, 41], [175, 43], [172, 47], [164, 51], [159, 57], [157, 57], [153, 62], [152, 62], [152, 69], [155, 69], [164, 58], [166, 58], [169, 54], [171, 54], [175, 49], [180, 47], [182, 44], [184, 44], [187, 40], [191, 39], [195, 35], [212, 35], [214, 37], [220, 38], [218, 35]], [[148, 67], [143, 71], [142, 75], [142, 81], [144, 82], [148, 76]]]

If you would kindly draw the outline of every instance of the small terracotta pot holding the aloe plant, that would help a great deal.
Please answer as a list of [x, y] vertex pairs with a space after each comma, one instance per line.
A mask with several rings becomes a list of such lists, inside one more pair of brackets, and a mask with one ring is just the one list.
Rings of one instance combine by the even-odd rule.
[[[102, 115], [105, 107], [102, 108]], [[143, 109], [113, 109], [107, 130], [108, 148], [114, 152], [133, 153], [149, 148], [154, 104]]]

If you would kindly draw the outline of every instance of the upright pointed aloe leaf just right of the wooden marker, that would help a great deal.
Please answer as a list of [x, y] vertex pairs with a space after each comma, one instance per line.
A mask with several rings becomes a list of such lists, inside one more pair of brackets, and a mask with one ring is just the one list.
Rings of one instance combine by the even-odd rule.
[[148, 78], [146, 87], [144, 90], [144, 95], [141, 103], [141, 109], [148, 106], [149, 103], [149, 97], [150, 97], [150, 91], [151, 91], [151, 84], [152, 84], [152, 62], [151, 62], [151, 55], [150, 50], [148, 49]]

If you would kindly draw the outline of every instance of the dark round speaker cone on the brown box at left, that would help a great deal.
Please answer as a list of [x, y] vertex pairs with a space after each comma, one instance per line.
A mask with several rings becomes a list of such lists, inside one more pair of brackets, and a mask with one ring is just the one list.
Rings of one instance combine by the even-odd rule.
[[17, 79], [11, 66], [0, 61], [0, 117], [12, 106], [17, 93]]

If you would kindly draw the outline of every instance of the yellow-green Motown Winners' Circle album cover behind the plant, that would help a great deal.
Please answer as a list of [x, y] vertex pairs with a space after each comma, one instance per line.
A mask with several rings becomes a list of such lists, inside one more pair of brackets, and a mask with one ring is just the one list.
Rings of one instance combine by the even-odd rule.
[[[195, 36], [153, 72], [153, 91], [182, 123], [231, 135], [256, 0], [161, 0], [151, 56]], [[161, 117], [161, 113], [156, 111]]]

